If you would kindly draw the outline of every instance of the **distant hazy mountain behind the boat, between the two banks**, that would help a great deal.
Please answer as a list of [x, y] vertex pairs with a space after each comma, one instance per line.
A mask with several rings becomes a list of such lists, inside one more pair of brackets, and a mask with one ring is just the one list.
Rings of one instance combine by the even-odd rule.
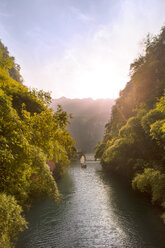
[[56, 110], [58, 104], [73, 115], [69, 131], [75, 138], [77, 148], [83, 152], [93, 152], [98, 141], [102, 139], [114, 100], [61, 97], [53, 100], [51, 107]]

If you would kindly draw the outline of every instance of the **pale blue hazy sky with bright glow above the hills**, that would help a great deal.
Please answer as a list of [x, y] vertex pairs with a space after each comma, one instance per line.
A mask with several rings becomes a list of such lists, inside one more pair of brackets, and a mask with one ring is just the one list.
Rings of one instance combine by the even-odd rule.
[[55, 98], [116, 98], [165, 0], [0, 0], [0, 38], [24, 84]]

